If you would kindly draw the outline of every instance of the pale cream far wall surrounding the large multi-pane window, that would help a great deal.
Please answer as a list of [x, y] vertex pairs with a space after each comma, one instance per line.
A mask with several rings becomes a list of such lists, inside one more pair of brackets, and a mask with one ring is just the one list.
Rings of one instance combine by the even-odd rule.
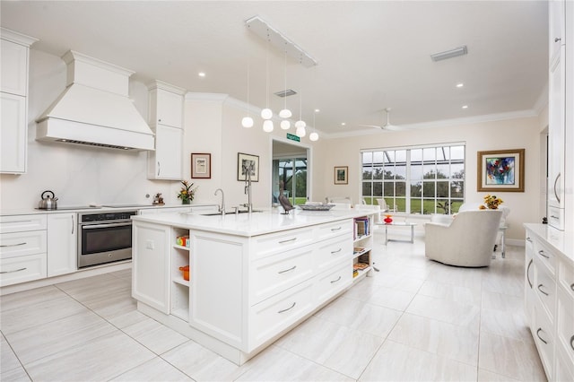
[[[317, 185], [315, 198], [322, 195], [350, 195], [360, 200], [361, 195], [361, 149], [402, 147], [429, 143], [465, 142], [465, 201], [483, 202], [486, 192], [476, 191], [477, 152], [488, 150], [526, 149], [525, 192], [497, 192], [511, 209], [509, 214], [509, 239], [524, 239], [523, 222], [540, 222], [544, 211], [540, 211], [540, 131], [539, 117], [484, 122], [465, 126], [439, 129], [379, 132], [373, 135], [345, 137], [323, 141], [317, 152], [321, 152], [323, 172], [327, 175]], [[333, 168], [349, 166], [349, 185], [335, 185]]]

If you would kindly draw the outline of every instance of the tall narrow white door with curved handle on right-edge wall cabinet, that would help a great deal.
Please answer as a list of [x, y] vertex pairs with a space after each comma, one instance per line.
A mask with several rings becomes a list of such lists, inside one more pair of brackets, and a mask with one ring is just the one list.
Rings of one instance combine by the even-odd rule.
[[[564, 47], [561, 48], [561, 53]], [[548, 113], [548, 205], [564, 208], [564, 56], [551, 64]], [[560, 227], [558, 227], [560, 228]]]

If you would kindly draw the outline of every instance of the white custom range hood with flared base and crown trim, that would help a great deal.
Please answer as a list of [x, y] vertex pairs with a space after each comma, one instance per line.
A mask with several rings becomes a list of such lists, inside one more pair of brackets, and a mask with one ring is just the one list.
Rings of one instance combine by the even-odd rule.
[[153, 150], [153, 132], [128, 97], [134, 72], [70, 50], [65, 91], [36, 122], [39, 141]]

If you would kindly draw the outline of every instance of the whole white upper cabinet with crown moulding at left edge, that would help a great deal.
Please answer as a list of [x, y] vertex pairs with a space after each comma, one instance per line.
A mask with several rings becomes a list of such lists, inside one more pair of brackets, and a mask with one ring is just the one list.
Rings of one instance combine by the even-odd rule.
[[23, 174], [28, 144], [28, 56], [30, 45], [37, 39], [4, 28], [0, 31], [0, 172]]

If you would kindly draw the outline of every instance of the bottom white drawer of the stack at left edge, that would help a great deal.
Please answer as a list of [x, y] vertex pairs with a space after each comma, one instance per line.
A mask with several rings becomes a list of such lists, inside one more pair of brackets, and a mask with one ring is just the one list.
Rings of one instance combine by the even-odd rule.
[[43, 279], [46, 269], [46, 253], [0, 259], [0, 286]]

